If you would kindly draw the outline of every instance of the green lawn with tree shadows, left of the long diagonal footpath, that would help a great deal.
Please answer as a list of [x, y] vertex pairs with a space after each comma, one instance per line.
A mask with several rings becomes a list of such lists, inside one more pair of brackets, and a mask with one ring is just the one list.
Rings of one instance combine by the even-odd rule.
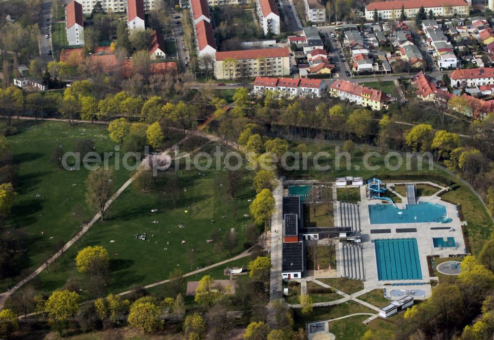
[[[60, 241], [68, 241], [77, 232], [82, 220], [90, 219], [95, 211], [85, 204], [84, 180], [88, 171], [60, 170], [50, 162], [53, 150], [63, 145], [66, 152], [73, 150], [74, 142], [91, 138], [96, 151], [114, 151], [114, 143], [108, 137], [106, 125], [77, 124], [69, 127], [64, 122], [21, 121], [14, 124], [18, 133], [7, 137], [15, 161], [19, 164], [20, 185], [15, 189], [18, 197], [9, 219], [3, 221], [7, 228], [19, 228], [28, 237], [27, 251], [14, 257], [13, 266], [18, 276], [0, 280], [0, 290], [12, 286], [26, 273], [38, 268], [54, 254]], [[110, 158], [109, 164], [114, 163]], [[120, 167], [115, 171], [115, 190], [129, 177]], [[40, 195], [37, 197], [37, 195]], [[82, 215], [74, 215], [77, 206]], [[44, 235], [41, 235], [41, 232]]]

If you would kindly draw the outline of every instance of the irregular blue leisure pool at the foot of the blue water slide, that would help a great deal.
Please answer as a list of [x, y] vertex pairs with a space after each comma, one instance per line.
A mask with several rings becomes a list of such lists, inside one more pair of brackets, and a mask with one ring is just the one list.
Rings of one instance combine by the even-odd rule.
[[451, 219], [448, 221], [443, 219], [442, 217], [444, 216], [446, 216], [446, 208], [440, 204], [430, 202], [407, 204], [405, 209], [398, 209], [390, 204], [373, 204], [369, 206], [371, 224], [451, 222]]

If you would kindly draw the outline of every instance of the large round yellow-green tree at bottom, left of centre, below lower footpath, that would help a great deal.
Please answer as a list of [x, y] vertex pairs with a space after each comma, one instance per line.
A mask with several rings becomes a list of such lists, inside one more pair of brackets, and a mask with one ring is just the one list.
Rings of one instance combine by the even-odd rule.
[[148, 297], [139, 298], [130, 305], [128, 323], [146, 333], [157, 331], [163, 325], [161, 309]]

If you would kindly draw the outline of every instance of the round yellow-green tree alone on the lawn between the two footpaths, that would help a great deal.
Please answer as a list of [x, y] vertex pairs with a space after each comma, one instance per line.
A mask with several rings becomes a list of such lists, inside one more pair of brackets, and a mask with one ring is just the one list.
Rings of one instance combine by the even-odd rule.
[[101, 246], [89, 246], [77, 253], [76, 266], [81, 273], [102, 276], [109, 267], [108, 251]]

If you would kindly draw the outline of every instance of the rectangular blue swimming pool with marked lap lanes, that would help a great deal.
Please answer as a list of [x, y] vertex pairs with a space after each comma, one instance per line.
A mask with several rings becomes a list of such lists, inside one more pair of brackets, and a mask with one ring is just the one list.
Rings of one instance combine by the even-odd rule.
[[422, 279], [416, 239], [375, 240], [374, 248], [378, 280]]

